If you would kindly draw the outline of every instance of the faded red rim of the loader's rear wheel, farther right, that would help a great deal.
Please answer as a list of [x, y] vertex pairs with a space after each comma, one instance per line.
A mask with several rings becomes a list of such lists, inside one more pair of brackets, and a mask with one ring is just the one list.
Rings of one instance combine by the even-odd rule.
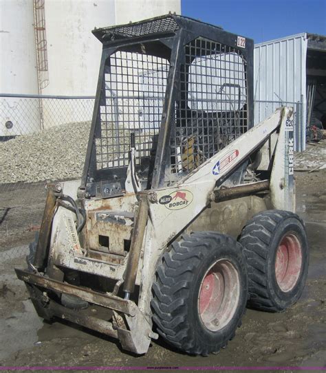
[[275, 276], [279, 288], [284, 293], [291, 291], [301, 273], [301, 243], [294, 233], [283, 236], [276, 251]]

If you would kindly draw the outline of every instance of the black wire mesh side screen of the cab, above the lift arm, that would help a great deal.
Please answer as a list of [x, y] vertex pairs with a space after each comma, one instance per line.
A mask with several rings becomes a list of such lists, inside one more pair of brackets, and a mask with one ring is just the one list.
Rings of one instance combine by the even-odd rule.
[[237, 49], [197, 38], [185, 47], [171, 138], [171, 172], [188, 173], [246, 131], [246, 63]]

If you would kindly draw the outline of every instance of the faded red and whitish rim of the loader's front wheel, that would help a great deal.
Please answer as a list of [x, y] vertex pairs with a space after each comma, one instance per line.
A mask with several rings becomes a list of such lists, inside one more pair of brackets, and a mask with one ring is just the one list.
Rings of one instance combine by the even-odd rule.
[[239, 273], [226, 259], [215, 262], [205, 273], [199, 289], [198, 310], [208, 330], [224, 328], [235, 315], [240, 297]]

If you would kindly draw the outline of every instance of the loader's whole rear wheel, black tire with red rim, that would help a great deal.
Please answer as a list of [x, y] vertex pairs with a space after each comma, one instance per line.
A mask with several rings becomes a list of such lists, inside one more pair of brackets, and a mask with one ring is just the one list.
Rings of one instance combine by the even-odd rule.
[[250, 220], [240, 243], [248, 265], [248, 306], [281, 312], [301, 296], [307, 278], [309, 249], [301, 218], [268, 210]]

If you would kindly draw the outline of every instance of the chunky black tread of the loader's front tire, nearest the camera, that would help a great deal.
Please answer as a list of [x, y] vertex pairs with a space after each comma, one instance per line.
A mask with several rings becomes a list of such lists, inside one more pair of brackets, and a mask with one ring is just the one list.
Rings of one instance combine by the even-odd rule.
[[[208, 255], [212, 247], [231, 243], [236, 245], [239, 253], [242, 251], [239, 242], [217, 232], [184, 235], [179, 242], [173, 242], [171, 250], [164, 253], [162, 263], [157, 268], [157, 281], [153, 284], [151, 301], [153, 321], [157, 332], [168, 343], [184, 352], [207, 356], [226, 346], [226, 341], [221, 341], [212, 350], [212, 346], [208, 347], [193, 337], [184, 299], [187, 299], [191, 291], [193, 271], [202, 258]], [[241, 317], [245, 310], [243, 306]], [[237, 326], [241, 325], [241, 317]], [[229, 339], [234, 335], [235, 332], [232, 332]]]

